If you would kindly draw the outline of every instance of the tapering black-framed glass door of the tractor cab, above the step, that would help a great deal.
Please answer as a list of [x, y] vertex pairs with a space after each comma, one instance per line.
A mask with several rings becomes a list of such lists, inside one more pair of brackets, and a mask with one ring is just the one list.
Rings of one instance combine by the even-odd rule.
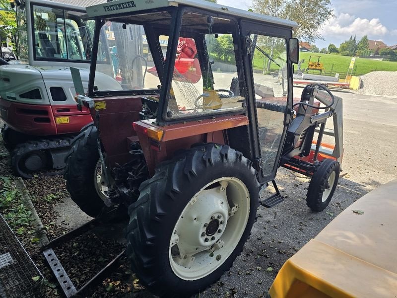
[[290, 122], [292, 67], [287, 40], [291, 31], [248, 21], [240, 26], [249, 57], [246, 63], [253, 74], [247, 86], [255, 96], [261, 178], [267, 182], [275, 177]]

